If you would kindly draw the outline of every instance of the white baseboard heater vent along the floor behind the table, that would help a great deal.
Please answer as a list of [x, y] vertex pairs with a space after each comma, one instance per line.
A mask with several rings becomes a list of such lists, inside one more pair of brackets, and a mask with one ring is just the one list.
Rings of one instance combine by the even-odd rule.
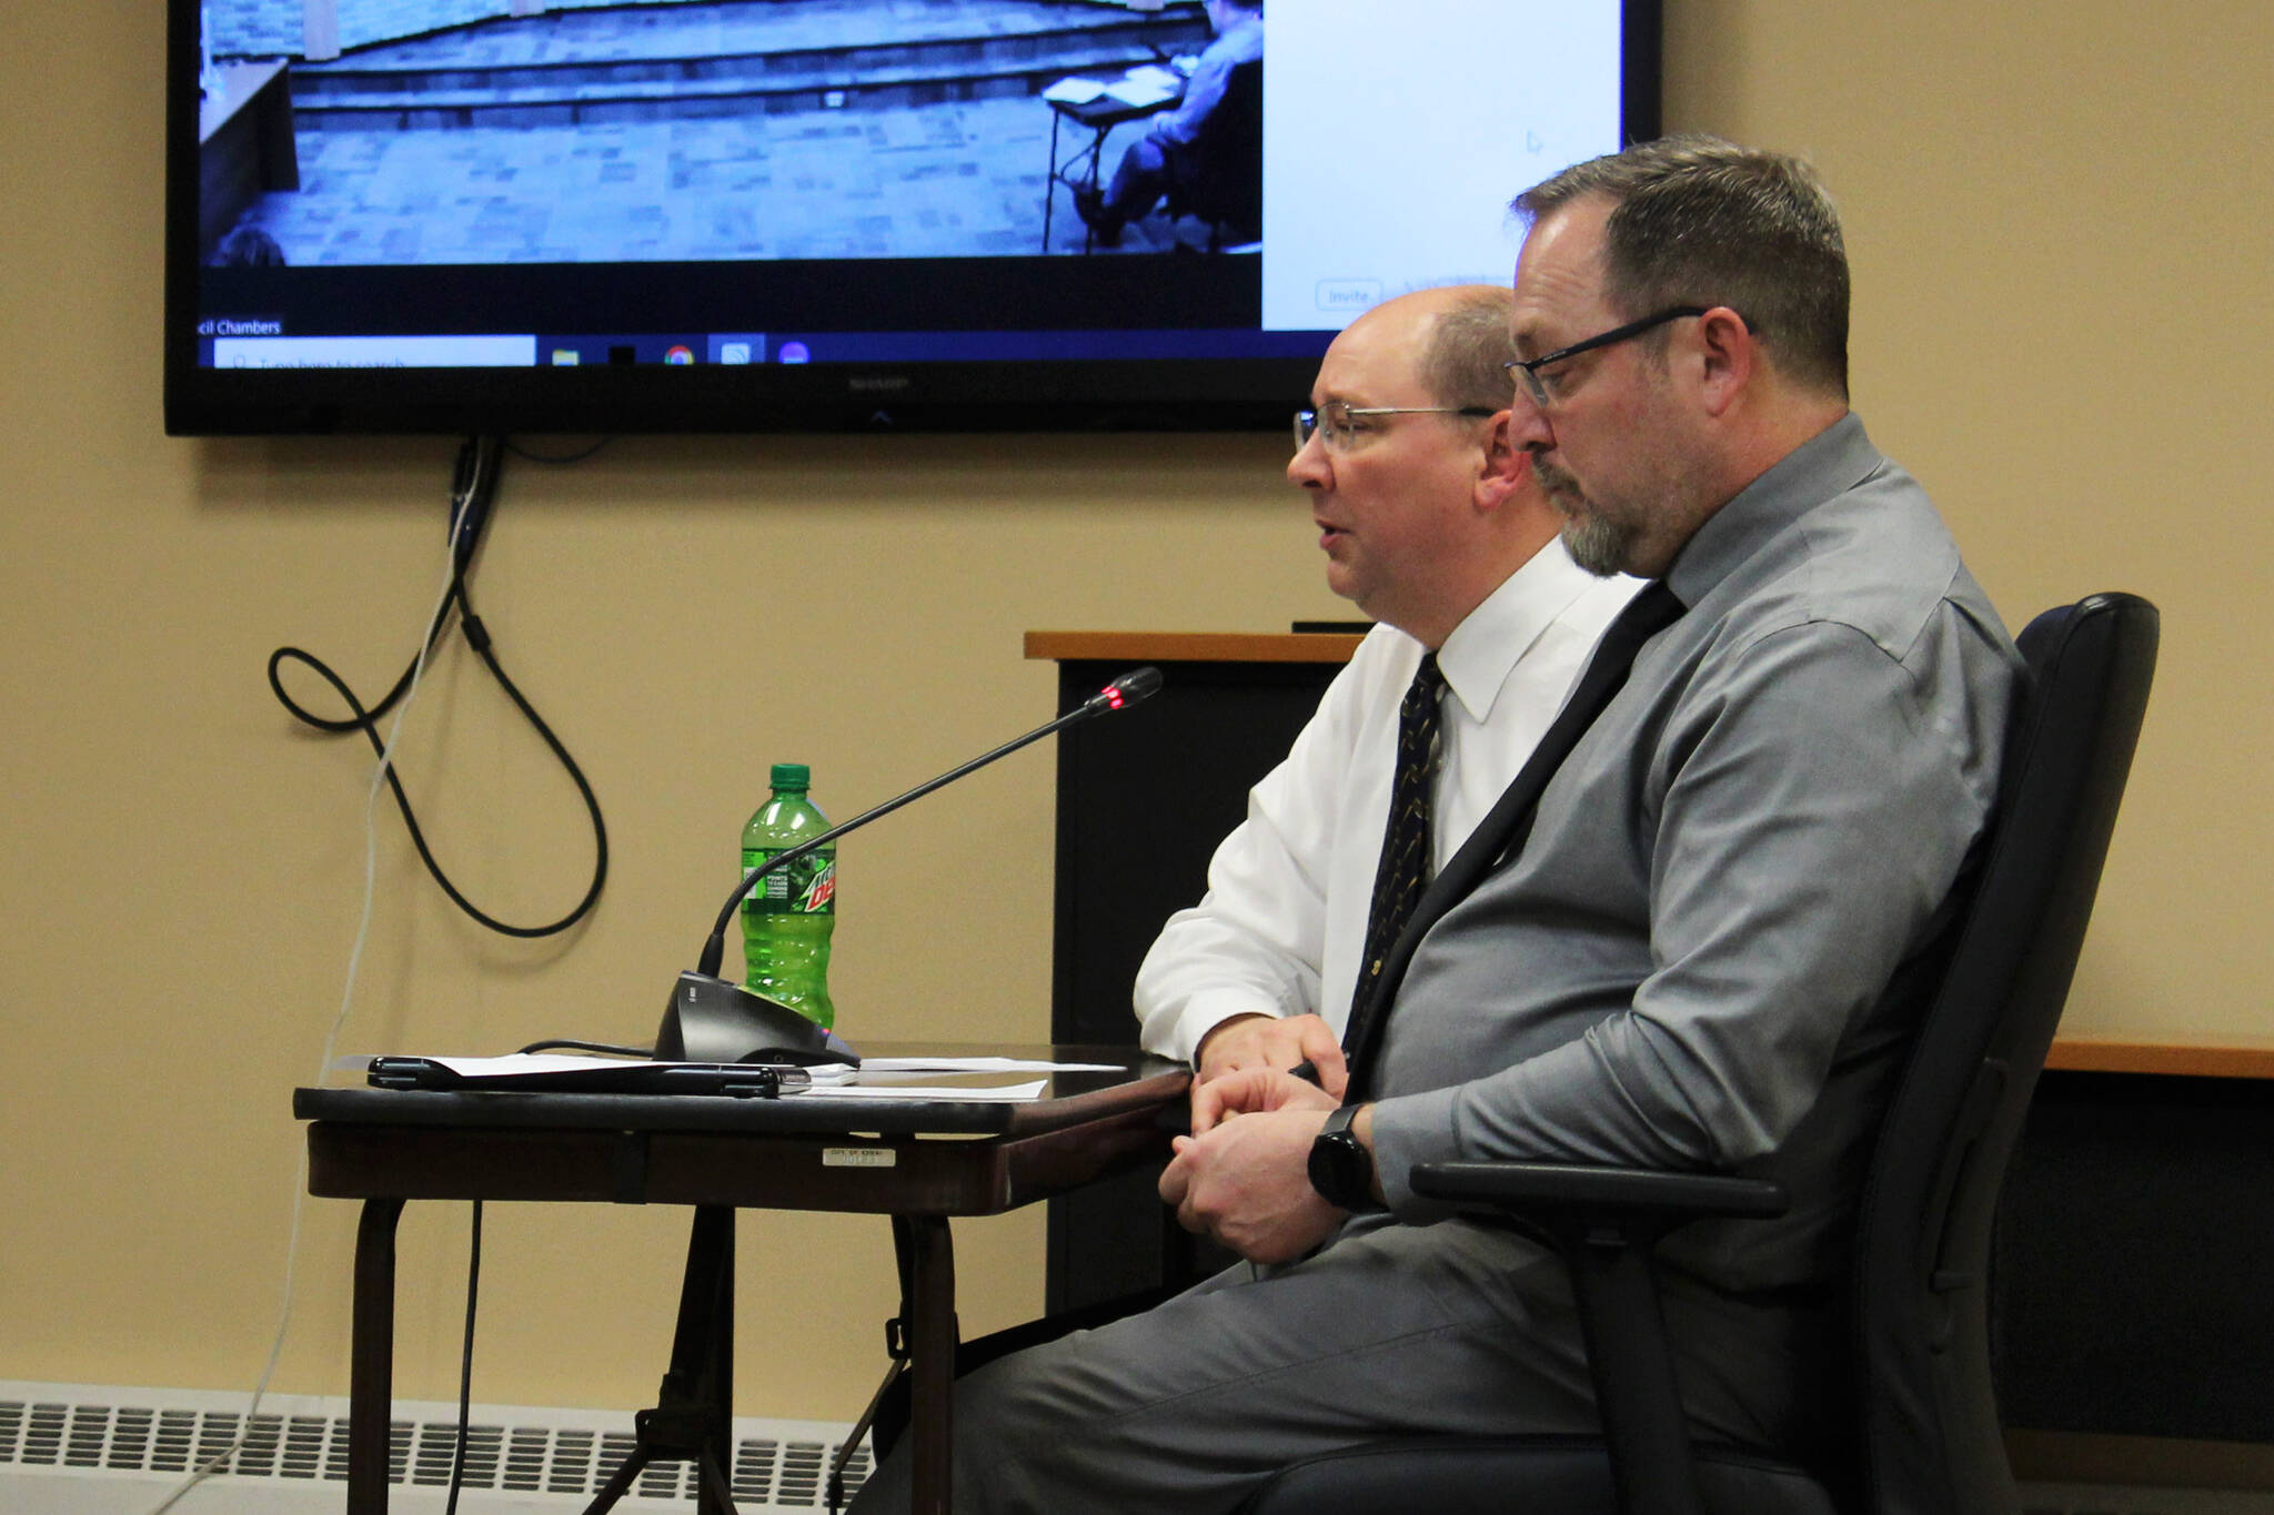
[[[223, 1463], [218, 1481], [239, 1488], [300, 1483], [321, 1492], [321, 1506], [309, 1508], [337, 1508], [339, 1492], [321, 1485], [348, 1476], [348, 1401], [271, 1395], [248, 1424], [246, 1399], [0, 1379], [0, 1490], [20, 1488], [20, 1479], [32, 1476], [177, 1481], [243, 1431], [246, 1440]], [[398, 1399], [393, 1408], [391, 1483], [446, 1488], [457, 1451], [457, 1406]], [[819, 1510], [830, 1460], [848, 1431], [823, 1420], [735, 1420], [737, 1508]], [[632, 1445], [628, 1411], [473, 1406], [464, 1476], [468, 1499], [459, 1508], [555, 1508], [546, 1497], [562, 1506], [591, 1499]], [[846, 1497], [866, 1476], [869, 1449], [857, 1447], [846, 1463]], [[484, 1490], [514, 1499], [473, 1501]], [[630, 1497], [641, 1504], [694, 1504], [696, 1470], [691, 1463], [650, 1463]], [[36, 1506], [0, 1497], [0, 1508]]]

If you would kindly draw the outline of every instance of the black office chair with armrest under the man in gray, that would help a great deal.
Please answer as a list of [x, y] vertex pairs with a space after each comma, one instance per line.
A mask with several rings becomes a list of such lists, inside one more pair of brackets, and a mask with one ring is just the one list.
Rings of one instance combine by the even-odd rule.
[[1692, 1447], [1651, 1247], [1785, 1208], [1758, 1179], [1430, 1163], [1433, 1199], [1494, 1208], [1574, 1274], [1599, 1438], [1405, 1438], [1273, 1474], [1248, 1515], [2012, 1515], [1990, 1386], [1990, 1224], [2092, 915], [2156, 672], [2156, 606], [2092, 595], [2022, 631], [2017, 706], [1974, 895], [1874, 1147], [1856, 1229], [1844, 1467]]

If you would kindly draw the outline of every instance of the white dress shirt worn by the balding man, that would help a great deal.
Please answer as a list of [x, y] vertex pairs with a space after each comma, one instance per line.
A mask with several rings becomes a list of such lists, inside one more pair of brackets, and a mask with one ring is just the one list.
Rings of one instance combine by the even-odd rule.
[[[1551, 541], [1444, 638], [1433, 868], [1524, 768], [1637, 588], [1596, 579]], [[1248, 790], [1248, 818], [1207, 865], [1207, 895], [1169, 918], [1137, 970], [1146, 1049], [1192, 1061], [1219, 1022], [1253, 1013], [1314, 1011], [1342, 1031], [1389, 820], [1399, 702], [1421, 652], [1394, 627], [1367, 634], [1287, 761]]]

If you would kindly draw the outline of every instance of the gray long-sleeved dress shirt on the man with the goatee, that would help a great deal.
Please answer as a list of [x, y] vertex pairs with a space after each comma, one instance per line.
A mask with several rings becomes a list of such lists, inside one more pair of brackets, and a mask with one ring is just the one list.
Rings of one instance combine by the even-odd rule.
[[1376, 1161], [1408, 1222], [1437, 1215], [1408, 1170], [1439, 1158], [1774, 1177], [1792, 1215], [1690, 1227], [1660, 1256], [1801, 1301], [1842, 1272], [1919, 1011], [1901, 968], [1987, 818], [2022, 663], [1856, 416], [1706, 520], [1667, 584], [1690, 611], [1524, 852], [1414, 952]]

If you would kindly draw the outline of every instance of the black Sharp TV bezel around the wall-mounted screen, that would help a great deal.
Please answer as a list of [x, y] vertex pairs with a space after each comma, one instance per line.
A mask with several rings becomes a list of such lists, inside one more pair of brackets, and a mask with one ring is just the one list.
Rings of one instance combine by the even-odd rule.
[[[223, 370], [198, 361], [198, 0], [168, 0], [171, 436], [1251, 432], [1287, 425], [1314, 357]], [[1660, 0], [1621, 2], [1621, 136], [1660, 129]], [[1114, 259], [1123, 261], [1123, 259]], [[416, 375], [416, 382], [409, 379]]]

